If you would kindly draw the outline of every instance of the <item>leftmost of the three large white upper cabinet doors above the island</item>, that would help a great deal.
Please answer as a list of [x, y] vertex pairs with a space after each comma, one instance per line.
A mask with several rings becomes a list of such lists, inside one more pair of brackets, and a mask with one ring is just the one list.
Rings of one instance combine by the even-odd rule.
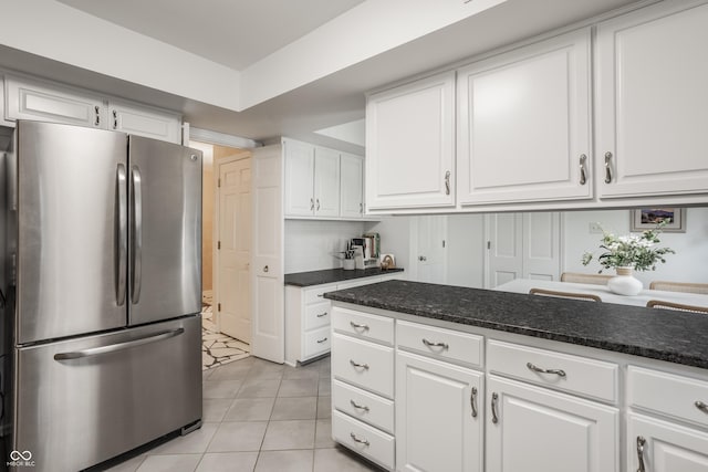
[[455, 73], [368, 97], [369, 210], [455, 204]]

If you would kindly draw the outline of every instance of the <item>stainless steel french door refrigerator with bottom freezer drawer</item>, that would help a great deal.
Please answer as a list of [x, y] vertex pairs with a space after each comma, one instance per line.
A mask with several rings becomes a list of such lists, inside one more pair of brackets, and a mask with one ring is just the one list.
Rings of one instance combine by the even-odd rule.
[[81, 470], [198, 427], [201, 153], [39, 122], [17, 140], [14, 455]]

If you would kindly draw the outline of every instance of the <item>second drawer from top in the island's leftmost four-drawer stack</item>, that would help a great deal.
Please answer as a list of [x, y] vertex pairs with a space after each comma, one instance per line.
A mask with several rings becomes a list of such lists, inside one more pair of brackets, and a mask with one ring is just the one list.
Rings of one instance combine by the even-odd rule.
[[332, 377], [394, 398], [394, 349], [334, 333]]

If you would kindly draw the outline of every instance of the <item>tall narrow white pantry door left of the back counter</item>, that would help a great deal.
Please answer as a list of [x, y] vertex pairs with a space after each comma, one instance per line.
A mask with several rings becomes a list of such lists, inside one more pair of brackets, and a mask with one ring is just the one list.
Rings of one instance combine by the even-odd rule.
[[280, 364], [285, 360], [281, 149], [253, 151], [251, 247], [251, 354]]

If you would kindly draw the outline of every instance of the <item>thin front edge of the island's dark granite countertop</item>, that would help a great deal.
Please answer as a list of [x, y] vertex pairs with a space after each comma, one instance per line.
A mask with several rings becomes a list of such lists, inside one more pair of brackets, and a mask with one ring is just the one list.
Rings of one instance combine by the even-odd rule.
[[449, 314], [423, 313], [416, 310], [407, 310], [405, 307], [392, 307], [392, 306], [387, 306], [379, 303], [371, 303], [364, 300], [353, 301], [348, 296], [339, 296], [336, 292], [325, 293], [324, 297], [329, 300], [337, 301], [337, 302], [368, 306], [372, 308], [386, 310], [389, 312], [405, 313], [408, 315], [420, 316], [424, 318], [440, 319], [440, 321], [446, 321], [450, 323], [477, 326], [480, 328], [501, 331], [501, 332], [512, 333], [512, 334], [520, 334], [524, 336], [532, 336], [532, 337], [538, 337], [538, 338], [549, 339], [549, 340], [558, 340], [562, 343], [575, 344], [579, 346], [594, 347], [603, 350], [612, 350], [612, 352], [622, 353], [622, 354], [629, 354], [633, 356], [647, 357], [650, 359], [665, 360], [668, 363], [681, 364], [686, 366], [708, 369], [708, 359], [704, 357], [687, 356], [680, 353], [668, 353], [665, 350], [650, 349], [650, 348], [641, 347], [641, 346], [631, 346], [631, 345], [615, 343], [615, 342], [606, 342], [602, 339], [590, 339], [590, 338], [580, 337], [580, 336], [569, 336], [560, 333], [553, 333], [550, 331], [541, 331], [541, 329], [534, 329], [525, 326], [516, 326], [511, 324], [494, 323], [494, 322], [489, 322], [487, 319], [471, 318], [467, 316], [458, 317]]

